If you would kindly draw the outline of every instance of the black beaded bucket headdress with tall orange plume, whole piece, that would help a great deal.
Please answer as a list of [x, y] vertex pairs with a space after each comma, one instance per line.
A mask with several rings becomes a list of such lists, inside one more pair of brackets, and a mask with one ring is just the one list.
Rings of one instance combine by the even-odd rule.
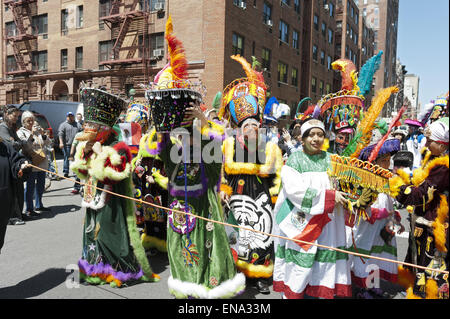
[[185, 109], [191, 102], [200, 105], [206, 94], [206, 89], [200, 82], [188, 80], [188, 63], [183, 43], [173, 34], [170, 16], [166, 22], [165, 39], [169, 62], [155, 76], [146, 91], [152, 122], [158, 132], [191, 126], [192, 121], [183, 122]]

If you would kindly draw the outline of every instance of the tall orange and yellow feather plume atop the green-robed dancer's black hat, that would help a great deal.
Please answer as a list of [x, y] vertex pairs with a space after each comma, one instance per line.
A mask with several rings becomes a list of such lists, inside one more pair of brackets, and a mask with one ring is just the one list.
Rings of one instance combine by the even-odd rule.
[[[180, 88], [184, 87], [179, 81], [188, 77], [187, 59], [183, 47], [183, 43], [173, 35], [172, 17], [169, 16], [166, 22], [166, 41], [169, 51], [169, 62], [155, 76], [154, 83], [158, 88]], [[178, 83], [177, 83], [178, 82]]]

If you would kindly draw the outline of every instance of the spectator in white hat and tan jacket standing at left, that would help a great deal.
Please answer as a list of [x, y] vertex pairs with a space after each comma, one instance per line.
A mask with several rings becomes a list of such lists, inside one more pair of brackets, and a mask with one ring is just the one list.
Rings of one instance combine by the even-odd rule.
[[[31, 144], [32, 153], [31, 160], [34, 166], [47, 169], [48, 159], [45, 150], [51, 144], [50, 138], [45, 135], [44, 130], [35, 121], [33, 113], [25, 111], [22, 114], [22, 127], [17, 131], [17, 135], [23, 141]], [[33, 197], [36, 190], [36, 206], [34, 209]], [[42, 204], [42, 195], [45, 190], [45, 172], [37, 168], [33, 168], [28, 176], [25, 189], [25, 216], [39, 216], [36, 211], [48, 212], [49, 208]], [[36, 211], [35, 211], [36, 210]]]

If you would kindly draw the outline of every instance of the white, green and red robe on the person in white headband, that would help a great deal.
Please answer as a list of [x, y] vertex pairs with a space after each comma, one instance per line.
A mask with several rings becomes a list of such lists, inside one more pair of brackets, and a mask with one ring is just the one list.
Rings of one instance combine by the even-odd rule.
[[[281, 170], [282, 190], [275, 205], [275, 233], [341, 249], [346, 248], [342, 206], [335, 207], [327, 169], [330, 154], [293, 153]], [[350, 297], [348, 255], [275, 239], [274, 291], [287, 298]]]

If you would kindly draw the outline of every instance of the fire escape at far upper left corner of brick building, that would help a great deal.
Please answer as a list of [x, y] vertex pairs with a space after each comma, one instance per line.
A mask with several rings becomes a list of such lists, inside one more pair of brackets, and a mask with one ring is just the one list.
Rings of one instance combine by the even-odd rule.
[[[36, 73], [32, 70], [32, 44], [31, 40], [37, 37], [30, 32], [31, 25], [31, 10], [30, 4], [37, 2], [37, 0], [4, 0], [3, 4], [11, 10], [15, 30], [9, 33], [5, 30], [6, 45], [10, 45], [13, 49], [14, 58], [16, 60], [17, 70], [10, 70], [5, 72], [6, 75], [30, 75]], [[25, 25], [25, 20], [28, 20], [29, 25]]]

